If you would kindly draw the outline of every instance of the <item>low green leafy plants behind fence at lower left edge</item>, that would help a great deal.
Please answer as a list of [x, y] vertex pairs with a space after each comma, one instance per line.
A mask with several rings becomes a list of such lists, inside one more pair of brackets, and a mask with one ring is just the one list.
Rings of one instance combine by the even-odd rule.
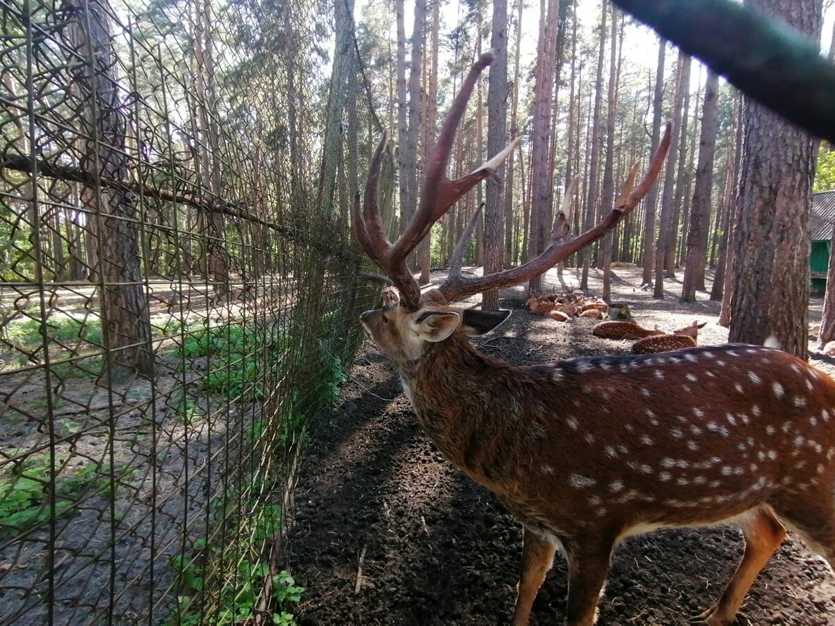
[[[55, 460], [58, 472], [55, 477], [57, 517], [69, 512], [73, 502], [85, 494], [110, 493], [109, 467], [91, 463], [71, 472], [63, 466], [64, 461]], [[61, 467], [63, 470], [60, 470]], [[13, 472], [6, 472], [0, 477], [0, 537], [13, 536], [48, 522], [51, 514], [48, 498], [51, 473], [48, 455], [42, 453], [28, 457]]]

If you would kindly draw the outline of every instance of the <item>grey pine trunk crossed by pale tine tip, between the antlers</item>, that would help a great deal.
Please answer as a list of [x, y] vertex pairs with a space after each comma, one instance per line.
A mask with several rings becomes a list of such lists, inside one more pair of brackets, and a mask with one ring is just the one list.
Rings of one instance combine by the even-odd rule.
[[[498, 154], [507, 139], [505, 130], [508, 101], [508, 3], [493, 0], [493, 24], [490, 48], [496, 59], [490, 65], [487, 92], [487, 154]], [[487, 179], [484, 196], [484, 273], [493, 274], [502, 269], [502, 189], [504, 164], [495, 176]], [[510, 234], [507, 233], [509, 237]], [[498, 309], [498, 291], [485, 291], [481, 308]]]

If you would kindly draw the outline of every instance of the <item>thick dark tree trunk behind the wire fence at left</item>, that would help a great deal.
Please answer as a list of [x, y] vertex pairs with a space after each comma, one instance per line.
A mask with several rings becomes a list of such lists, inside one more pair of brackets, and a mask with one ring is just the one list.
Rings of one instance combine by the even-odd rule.
[[[128, 178], [125, 132], [128, 120], [114, 76], [118, 67], [110, 31], [109, 7], [99, 0], [78, 3], [68, 11], [71, 49], [83, 63], [72, 63], [75, 88], [83, 105], [79, 123], [85, 142], [81, 168], [96, 177]], [[122, 378], [135, 370], [154, 370], [148, 302], [142, 285], [136, 208], [131, 194], [100, 185], [83, 187], [80, 201], [90, 211], [94, 275], [102, 299], [104, 342]]]

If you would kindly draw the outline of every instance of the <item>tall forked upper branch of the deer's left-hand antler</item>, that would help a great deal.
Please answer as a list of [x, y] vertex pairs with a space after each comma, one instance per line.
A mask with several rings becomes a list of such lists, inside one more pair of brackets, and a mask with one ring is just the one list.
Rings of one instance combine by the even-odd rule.
[[519, 139], [514, 139], [504, 150], [496, 154], [492, 159], [482, 164], [470, 174], [461, 179], [450, 180], [447, 178], [447, 166], [449, 155], [453, 149], [453, 141], [458, 124], [467, 110], [467, 103], [473, 93], [478, 76], [490, 63], [493, 63], [495, 53], [492, 50], [483, 53], [464, 79], [461, 90], [453, 100], [449, 114], [443, 122], [443, 127], [438, 134], [438, 141], [433, 146], [427, 162], [426, 174], [423, 180], [420, 206], [412, 220], [409, 221], [400, 239], [392, 248], [392, 265], [397, 265], [402, 259], [414, 250], [415, 246], [423, 240], [432, 225], [447, 212], [455, 202], [466, 194], [469, 189], [486, 179], [495, 172], [498, 165], [507, 159], [513, 152]]

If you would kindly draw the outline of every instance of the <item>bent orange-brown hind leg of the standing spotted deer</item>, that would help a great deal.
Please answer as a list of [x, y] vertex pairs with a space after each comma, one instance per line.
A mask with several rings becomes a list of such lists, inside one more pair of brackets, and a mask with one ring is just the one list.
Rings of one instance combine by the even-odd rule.
[[731, 578], [731, 583], [728, 584], [725, 593], [722, 593], [716, 606], [701, 613], [697, 618], [709, 626], [728, 624], [736, 618], [736, 612], [751, 588], [751, 583], [786, 537], [786, 529], [771, 507], [758, 507], [751, 511], [742, 524], [742, 535], [745, 537], [745, 553]]

